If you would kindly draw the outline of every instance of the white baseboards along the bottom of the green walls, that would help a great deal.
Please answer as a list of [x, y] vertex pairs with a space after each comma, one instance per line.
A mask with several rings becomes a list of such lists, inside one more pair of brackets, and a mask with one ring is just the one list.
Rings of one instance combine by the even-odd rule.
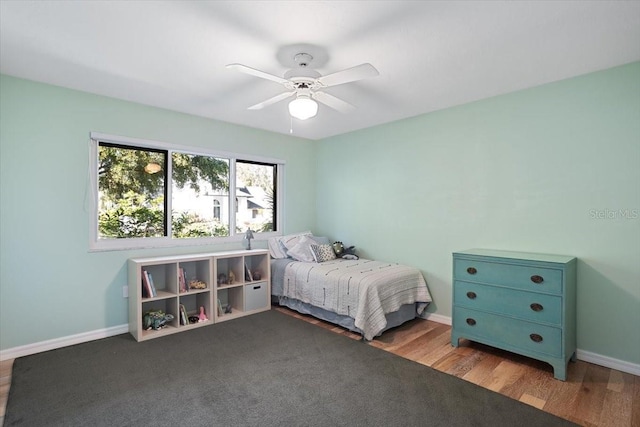
[[[451, 325], [451, 317], [448, 316], [442, 316], [436, 313], [425, 313], [421, 317], [444, 325]], [[30, 354], [41, 353], [43, 351], [55, 350], [57, 348], [124, 334], [128, 331], [129, 326], [124, 324], [113, 326], [111, 328], [99, 329], [97, 331], [84, 332], [82, 334], [42, 341], [39, 343], [27, 344], [20, 347], [13, 347], [7, 350], [0, 350], [0, 360], [15, 359], [17, 357], [28, 356]], [[603, 356], [601, 354], [580, 349], [576, 350], [576, 357], [578, 360], [582, 360], [584, 362], [640, 376], [640, 364], [626, 362], [624, 360], [614, 359], [613, 357]]]

